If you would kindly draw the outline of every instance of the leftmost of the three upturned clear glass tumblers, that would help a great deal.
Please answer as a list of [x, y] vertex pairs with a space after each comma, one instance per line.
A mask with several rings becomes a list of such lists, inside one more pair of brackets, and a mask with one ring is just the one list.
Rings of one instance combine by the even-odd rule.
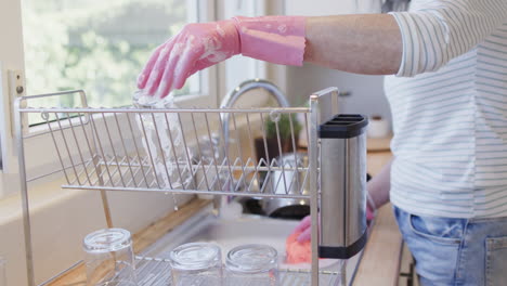
[[136, 286], [130, 232], [105, 229], [90, 233], [82, 246], [86, 252], [87, 286]]

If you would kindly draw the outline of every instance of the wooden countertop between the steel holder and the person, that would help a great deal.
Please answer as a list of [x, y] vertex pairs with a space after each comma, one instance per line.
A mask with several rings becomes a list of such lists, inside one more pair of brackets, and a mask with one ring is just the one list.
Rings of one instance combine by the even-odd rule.
[[[368, 172], [377, 174], [391, 157], [390, 152], [368, 153]], [[353, 285], [398, 285], [402, 247], [402, 236], [388, 204], [378, 210]]]

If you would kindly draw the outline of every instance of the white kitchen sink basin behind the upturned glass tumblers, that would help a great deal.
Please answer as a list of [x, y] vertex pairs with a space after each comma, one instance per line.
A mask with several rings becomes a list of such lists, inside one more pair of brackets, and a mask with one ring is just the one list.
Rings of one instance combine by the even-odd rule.
[[[272, 219], [257, 214], [237, 214], [235, 218], [221, 218], [208, 207], [193, 218], [158, 239], [138, 259], [145, 263], [167, 262], [169, 252], [186, 243], [209, 242], [219, 245], [224, 258], [230, 249], [245, 244], [266, 244], [274, 247], [280, 256], [281, 285], [311, 285], [310, 263], [285, 263], [285, 239], [298, 221]], [[321, 259], [320, 285], [343, 285], [342, 275], [350, 284], [361, 255], [347, 261]], [[142, 266], [142, 262], [141, 262]], [[147, 266], [146, 266], [147, 268]]]

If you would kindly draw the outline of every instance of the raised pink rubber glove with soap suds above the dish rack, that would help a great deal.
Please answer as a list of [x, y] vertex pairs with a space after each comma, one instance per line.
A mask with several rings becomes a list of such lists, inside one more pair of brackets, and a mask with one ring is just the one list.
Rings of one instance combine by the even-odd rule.
[[275, 64], [302, 65], [302, 16], [234, 17], [190, 24], [153, 52], [138, 78], [138, 88], [164, 98], [186, 78], [235, 54]]

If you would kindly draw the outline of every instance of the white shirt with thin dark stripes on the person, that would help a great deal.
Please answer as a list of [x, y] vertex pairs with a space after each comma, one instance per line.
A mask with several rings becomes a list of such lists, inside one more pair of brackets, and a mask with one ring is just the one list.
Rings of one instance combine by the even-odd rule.
[[399, 74], [386, 78], [391, 202], [412, 213], [507, 216], [507, 0], [413, 0], [391, 13]]

